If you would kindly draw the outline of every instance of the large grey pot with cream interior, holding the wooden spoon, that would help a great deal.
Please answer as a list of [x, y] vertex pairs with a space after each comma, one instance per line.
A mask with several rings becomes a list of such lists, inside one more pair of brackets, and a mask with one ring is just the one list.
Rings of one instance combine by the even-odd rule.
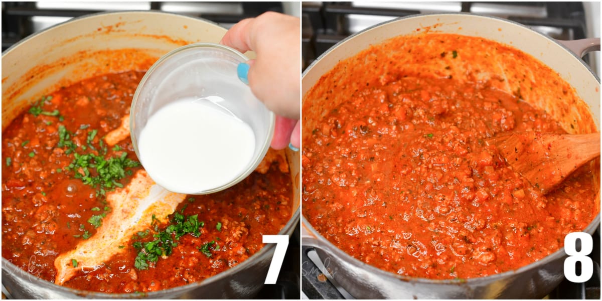
[[[425, 31], [426, 33], [424, 33]], [[577, 134], [599, 131], [600, 80], [591, 72], [580, 57], [577, 57], [565, 46], [523, 25], [503, 19], [476, 16], [473, 14], [426, 14], [404, 17], [368, 28], [330, 48], [329, 51], [321, 55], [305, 70], [302, 78], [304, 137], [311, 137], [311, 130], [318, 126], [314, 126], [314, 124], [321, 119], [320, 116], [335, 108], [345, 98], [343, 93], [338, 98], [337, 85], [334, 85], [335, 88], [329, 91], [330, 97], [326, 98], [328, 101], [321, 101], [317, 94], [312, 95], [312, 87], [316, 84], [319, 85], [320, 82], [324, 82], [320, 80], [321, 76], [332, 70], [341, 61], [343, 61], [343, 65], [338, 65], [337, 71], [329, 73], [329, 76], [334, 76], [332, 78], [354, 76], [353, 64], [347, 64], [348, 61], [344, 61], [346, 58], [352, 58], [355, 54], [362, 51], [362, 49], [367, 49], [370, 45], [385, 42], [385, 40], [392, 37], [424, 34], [424, 39], [428, 39], [429, 33], [453, 33], [464, 36], [484, 37], [485, 39], [494, 40], [504, 45], [510, 45], [532, 55], [532, 57], [535, 57], [553, 69], [548, 70], [548, 72], [554, 73], [554, 76], [557, 76], [555, 75], [557, 72], [560, 78], [574, 87], [575, 97], [569, 103], [565, 104], [546, 102], [545, 97], [542, 96], [558, 93], [560, 84], [540, 84], [538, 87], [534, 87], [532, 92], [523, 93], [523, 99], [530, 102], [533, 106], [543, 108], [552, 114], [554, 119], [558, 120], [569, 133]], [[594, 44], [597, 44], [598, 49], [600, 49], [599, 39], [594, 41]], [[576, 53], [580, 56], [582, 55], [582, 50], [589, 48], [591, 45], [586, 43], [585, 45], [573, 46], [577, 46], [576, 51], [578, 52]], [[390, 52], [396, 52], [396, 50], [387, 49]], [[461, 49], [458, 52], [461, 53]], [[380, 58], [379, 54], [383, 56], [390, 54], [385, 51], [376, 53], [376, 55], [365, 59], [362, 57], [361, 60], [353, 61], [353, 63], [377, 64], [377, 59]], [[397, 66], [406, 67], [414, 64], [411, 67], [418, 68], [423, 72], [422, 74], [430, 74], [433, 70], [441, 69], [438, 66], [430, 66], [429, 62], [421, 61], [420, 64], [413, 63], [411, 55], [404, 55], [393, 56], [393, 60], [403, 60], [401, 63], [397, 61]], [[517, 58], [502, 59], [517, 60]], [[381, 61], [388, 60], [385, 58], [385, 60]], [[515, 63], [515, 65], [520, 64], [520, 61]], [[485, 68], [486, 66], [478, 66], [475, 69], [479, 70], [481, 67]], [[375, 65], [375, 68], [382, 73], [387, 70], [386, 66], [379, 65], [379, 67], [376, 67]], [[338, 70], [341, 71], [339, 72]], [[536, 72], [539, 72], [539, 70]], [[462, 76], [461, 74], [454, 74], [454, 78], [457, 78], [456, 75]], [[535, 73], [535, 75], [537, 74]], [[375, 81], [377, 77], [374, 76]], [[364, 85], [366, 81], [370, 80], [370, 78], [362, 78], [358, 82]], [[509, 82], [507, 87], [499, 88], [505, 88], [507, 92], [511, 93], [517, 87], [520, 87], [519, 82]], [[358, 87], [344, 88], [354, 90]], [[569, 113], [566, 113], [566, 111], [562, 112], [560, 107], [562, 105], [566, 107], [568, 104], [571, 104], [569, 107], [574, 110]], [[578, 122], [578, 125], [571, 127], [570, 123], [573, 119], [582, 122]], [[597, 164], [599, 164], [599, 161]], [[599, 172], [597, 179], [599, 180]], [[600, 210], [599, 189], [600, 187], [598, 186], [598, 192], [595, 196], [598, 211]], [[334, 279], [349, 293], [359, 299], [533, 299], [541, 298], [548, 294], [564, 278], [563, 259], [566, 255], [563, 249], [518, 270], [483, 278], [432, 280], [400, 276], [395, 273], [385, 272], [347, 255], [347, 253], [338, 249], [334, 244], [315, 231], [305, 217], [302, 217], [302, 225], [303, 244], [314, 246], [322, 261], [328, 262], [327, 269], [333, 275]], [[600, 214], [588, 225], [585, 232], [592, 234], [598, 225], [600, 225]]]

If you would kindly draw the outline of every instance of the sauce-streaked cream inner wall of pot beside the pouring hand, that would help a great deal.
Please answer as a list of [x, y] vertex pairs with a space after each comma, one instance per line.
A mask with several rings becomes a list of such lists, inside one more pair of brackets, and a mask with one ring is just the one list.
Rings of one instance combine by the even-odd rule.
[[25, 104], [57, 88], [104, 73], [146, 70], [178, 46], [217, 43], [225, 33], [192, 17], [128, 12], [82, 17], [35, 34], [2, 54], [2, 130]]

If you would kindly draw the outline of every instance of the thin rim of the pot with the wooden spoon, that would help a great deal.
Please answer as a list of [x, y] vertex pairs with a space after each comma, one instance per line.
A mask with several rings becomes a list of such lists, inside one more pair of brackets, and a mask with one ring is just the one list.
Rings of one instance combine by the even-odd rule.
[[[492, 17], [492, 16], [481, 16], [479, 14], [474, 14], [474, 13], [427, 13], [427, 14], [412, 14], [410, 16], [405, 16], [405, 17], [397, 17], [395, 19], [391, 19], [382, 23], [378, 23], [376, 25], [370, 26], [368, 28], [365, 28], [362, 31], [359, 31], [358, 33], [355, 33], [349, 37], [346, 37], [345, 39], [339, 41], [337, 44], [335, 44], [334, 46], [330, 47], [327, 51], [323, 52], [323, 54], [321, 54], [317, 59], [315, 59], [311, 64], [309, 64], [309, 66], [303, 71], [302, 73], [302, 77], [301, 80], [303, 81], [303, 78], [305, 78], [305, 76], [309, 73], [309, 71], [312, 69], [312, 67], [314, 67], [315, 64], [317, 64], [319, 61], [321, 61], [324, 57], [326, 57], [326, 55], [328, 55], [331, 51], [333, 51], [335, 48], [338, 48], [338, 46], [342, 45], [343, 43], [346, 43], [347, 41], [353, 39], [356, 36], [359, 36], [361, 34], [366, 33], [367, 31], [370, 31], [371, 29], [380, 27], [380, 26], [384, 26], [384, 25], [388, 25], [389, 23], [393, 23], [393, 22], [402, 22], [405, 19], [413, 19], [413, 18], [418, 18], [418, 17], [435, 17], [435, 16], [450, 16], [450, 15], [455, 15], [455, 16], [464, 16], [464, 17], [473, 17], [475, 19], [479, 19], [479, 18], [483, 18], [483, 19], [493, 19], [496, 20], [496, 22], [506, 22], [506, 23], [511, 23], [512, 25], [518, 25], [521, 28], [523, 28], [523, 30], [527, 30], [530, 33], [535, 33], [535, 34], [539, 34], [542, 37], [545, 37], [546, 39], [550, 40], [551, 42], [553, 42], [555, 45], [565, 49], [566, 52], [568, 52], [569, 54], [573, 55], [573, 57], [577, 58], [580, 63], [583, 64], [584, 67], [586, 67], [586, 69], [589, 71], [589, 73], [591, 73], [591, 75], [594, 77], [594, 79], [598, 82], [598, 84], [600, 83], [600, 78], [598, 78], [597, 75], [595, 75], [594, 72], [592, 72], [592, 69], [588, 66], [588, 64], [585, 63], [585, 61], [582, 60], [582, 58], [578, 57], [576, 54], [574, 54], [572, 51], [570, 51], [568, 48], [566, 48], [566, 46], [562, 45], [562, 43], [558, 42], [555, 39], [552, 39], [551, 37], [545, 36], [544, 34], [538, 33], [537, 31], [534, 31], [533, 29], [528, 28], [527, 26], [521, 24], [521, 23], [517, 23], [514, 22], [512, 20], [506, 20], [506, 19], [501, 19], [500, 17]], [[393, 37], [391, 37], [393, 38]], [[389, 38], [389, 39], [391, 39]], [[386, 40], [386, 39], [385, 39]], [[384, 40], [383, 40], [384, 41]], [[382, 43], [382, 42], [379, 42]], [[360, 51], [362, 49], [359, 49]], [[520, 50], [520, 49], [519, 49]], [[305, 95], [303, 95], [305, 96]], [[367, 270], [370, 273], [376, 274], [377, 276], [383, 277], [383, 278], [390, 278], [390, 279], [397, 279], [399, 281], [406, 281], [406, 282], [414, 282], [416, 284], [430, 284], [430, 285], [470, 285], [470, 284], [481, 284], [481, 282], [485, 281], [485, 282], [494, 282], [494, 281], [498, 281], [500, 279], [504, 279], [507, 277], [510, 277], [512, 275], [515, 274], [519, 274], [519, 273], [523, 273], [526, 272], [528, 270], [532, 270], [535, 268], [538, 268], [540, 265], [545, 265], [548, 264], [548, 262], [557, 260], [562, 258], [563, 256], [566, 256], [566, 253], [564, 252], [564, 247], [556, 250], [556, 252], [551, 253], [548, 256], [545, 256], [544, 258], [532, 262], [530, 264], [527, 265], [523, 265], [520, 268], [517, 268], [516, 270], [509, 270], [503, 273], [497, 273], [494, 275], [489, 275], [489, 276], [483, 276], [483, 277], [477, 277], [477, 278], [467, 278], [467, 279], [429, 279], [429, 278], [419, 278], [419, 277], [411, 277], [411, 276], [402, 276], [393, 272], [388, 272], [385, 270], [381, 270], [380, 268], [374, 267], [373, 265], [367, 264], [349, 254], [347, 254], [346, 252], [344, 252], [343, 250], [339, 249], [337, 246], [335, 246], [333, 243], [331, 243], [329, 240], [327, 240], [325, 237], [323, 237], [323, 235], [321, 235], [318, 231], [316, 231], [314, 229], [314, 226], [311, 225], [311, 223], [308, 222], [308, 220], [306, 219], [306, 217], [302, 214], [301, 216], [301, 222], [303, 224], [303, 226], [308, 229], [308, 231], [311, 233], [311, 235], [313, 235], [315, 237], [315, 240], [318, 241], [318, 243], [321, 244], [320, 247], [325, 247], [324, 251], [325, 252], [329, 252], [329, 253], [334, 253], [335, 256], [338, 257], [338, 259], [343, 260], [344, 262], [347, 262], [349, 264], [355, 265], [355, 267], [357, 268], [361, 268], [364, 270]], [[593, 234], [594, 231], [596, 230], [596, 228], [600, 225], [600, 212], [598, 212], [598, 215], [594, 217], [594, 219], [592, 220], [591, 223], [589, 223], [589, 225], [583, 229], [583, 232], [587, 232], [588, 234]], [[318, 247], [318, 249], [320, 248]]]

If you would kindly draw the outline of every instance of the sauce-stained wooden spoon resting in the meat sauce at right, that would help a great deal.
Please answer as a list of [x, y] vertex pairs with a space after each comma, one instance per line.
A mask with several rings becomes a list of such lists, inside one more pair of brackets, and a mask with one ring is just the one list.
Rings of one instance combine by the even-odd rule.
[[548, 193], [574, 170], [600, 156], [600, 133], [585, 135], [517, 132], [489, 138], [502, 157], [542, 193]]

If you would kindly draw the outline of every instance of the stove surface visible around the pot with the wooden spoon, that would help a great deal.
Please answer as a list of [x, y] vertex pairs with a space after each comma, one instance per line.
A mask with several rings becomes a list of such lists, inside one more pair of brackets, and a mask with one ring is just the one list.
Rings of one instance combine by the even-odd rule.
[[[465, 12], [503, 17], [554, 39], [600, 37], [600, 2], [303, 2], [303, 69], [324, 51], [365, 28], [418, 13]], [[600, 75], [600, 52], [584, 60]], [[550, 299], [600, 299], [600, 228], [594, 234], [594, 276], [585, 284], [563, 281]], [[303, 299], [354, 299], [329, 275], [312, 247], [302, 247]]]

